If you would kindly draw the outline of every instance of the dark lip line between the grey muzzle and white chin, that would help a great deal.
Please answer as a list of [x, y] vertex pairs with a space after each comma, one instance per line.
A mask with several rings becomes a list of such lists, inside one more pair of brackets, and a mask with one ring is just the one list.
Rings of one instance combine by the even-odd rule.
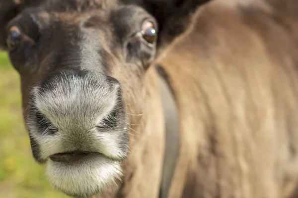
[[50, 156], [50, 159], [54, 162], [77, 162], [83, 160], [89, 155], [101, 154], [99, 152], [64, 152], [64, 153], [56, 153]]

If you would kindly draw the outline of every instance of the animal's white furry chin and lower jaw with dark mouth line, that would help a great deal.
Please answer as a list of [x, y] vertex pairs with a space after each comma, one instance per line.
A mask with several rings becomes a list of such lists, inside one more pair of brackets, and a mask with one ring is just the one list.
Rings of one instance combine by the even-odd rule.
[[49, 157], [46, 174], [57, 190], [87, 198], [119, 181], [122, 168], [120, 162], [100, 152], [61, 152]]

